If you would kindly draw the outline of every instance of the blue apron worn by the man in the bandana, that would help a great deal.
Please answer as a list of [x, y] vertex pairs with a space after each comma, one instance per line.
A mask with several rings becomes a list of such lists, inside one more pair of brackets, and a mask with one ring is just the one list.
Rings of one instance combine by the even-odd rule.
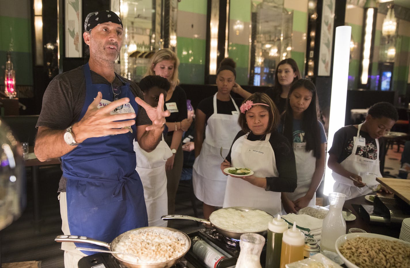
[[[114, 100], [111, 85], [92, 84], [88, 63], [83, 69], [86, 97], [79, 120], [98, 91], [103, 93], [101, 106]], [[118, 98], [128, 97], [130, 103], [115, 112], [126, 113], [134, 109], [138, 114], [138, 104], [130, 84], [123, 79], [121, 81], [125, 85], [121, 86]], [[126, 231], [148, 226], [144, 189], [135, 170], [132, 142], [137, 128], [135, 125], [131, 128], [133, 133], [86, 139], [62, 157], [63, 176], [67, 178], [67, 213], [71, 234], [111, 243]], [[75, 245], [98, 248], [84, 243]], [[94, 254], [89, 251], [84, 253]]]

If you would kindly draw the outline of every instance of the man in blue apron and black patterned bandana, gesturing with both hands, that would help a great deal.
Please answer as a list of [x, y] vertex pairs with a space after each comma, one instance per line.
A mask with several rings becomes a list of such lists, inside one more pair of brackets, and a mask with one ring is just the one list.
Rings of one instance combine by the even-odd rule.
[[[123, 42], [123, 25], [114, 12], [88, 14], [83, 37], [89, 62], [48, 85], [34, 152], [40, 161], [61, 157], [64, 234], [111, 242], [148, 226], [132, 143], [137, 139], [143, 150], [154, 150], [169, 112], [163, 110], [162, 94], [158, 107], [150, 107], [136, 84], [114, 73]], [[87, 245], [80, 244], [95, 248]], [[79, 259], [93, 254], [75, 250], [74, 243], [63, 243], [62, 249], [65, 267], [77, 267]]]

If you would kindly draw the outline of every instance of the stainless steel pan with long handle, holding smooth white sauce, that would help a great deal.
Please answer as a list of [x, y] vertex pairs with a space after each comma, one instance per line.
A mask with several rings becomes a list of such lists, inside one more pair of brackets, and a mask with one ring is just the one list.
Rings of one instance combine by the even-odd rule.
[[[254, 209], [252, 207], [225, 207], [223, 209], [236, 209], [236, 210], [240, 210], [240, 211], [250, 211], [250, 210], [260, 210], [260, 209]], [[216, 211], [219, 211], [221, 209], [218, 209]], [[212, 212], [215, 213], [216, 211]], [[266, 212], [266, 211], [265, 211]], [[211, 213], [211, 215], [212, 215]], [[267, 212], [266, 212], [267, 213]], [[270, 213], [268, 213], [269, 215], [271, 215]], [[272, 216], [272, 215], [271, 215]], [[273, 217], [273, 216], [272, 216]], [[234, 238], [234, 239], [239, 239], [241, 237], [241, 234], [244, 233], [239, 233], [239, 232], [232, 232], [230, 230], [227, 229], [222, 229], [221, 227], [218, 227], [216, 225], [214, 225], [210, 220], [205, 220], [205, 219], [201, 219], [201, 218], [196, 218], [196, 217], [191, 217], [191, 216], [186, 216], [186, 215], [164, 215], [161, 217], [163, 220], [172, 220], [172, 219], [180, 219], [180, 220], [195, 220], [195, 221], [199, 221], [201, 223], [205, 223], [205, 224], [209, 224], [211, 226], [213, 226], [216, 231], [219, 234], [222, 234], [224, 236], [227, 236], [228, 238]], [[262, 231], [262, 232], [257, 232], [257, 234], [260, 234], [264, 237], [266, 237], [268, 232], [268, 225], [266, 224], [266, 230]]]

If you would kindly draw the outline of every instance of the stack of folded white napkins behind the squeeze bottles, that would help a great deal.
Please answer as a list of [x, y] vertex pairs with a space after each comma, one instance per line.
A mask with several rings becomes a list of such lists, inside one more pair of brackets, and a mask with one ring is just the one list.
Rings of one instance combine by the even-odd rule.
[[292, 227], [296, 221], [296, 228], [300, 229], [307, 236], [312, 236], [318, 242], [320, 241], [323, 220], [305, 214], [298, 215], [294, 213], [282, 215], [282, 218], [289, 223], [289, 227]]

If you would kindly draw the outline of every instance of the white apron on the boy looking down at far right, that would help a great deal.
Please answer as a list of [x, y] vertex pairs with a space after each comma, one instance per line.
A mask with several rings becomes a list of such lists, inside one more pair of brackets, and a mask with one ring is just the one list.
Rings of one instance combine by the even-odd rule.
[[[380, 165], [379, 165], [379, 140], [376, 139], [376, 146], [377, 146], [377, 159], [368, 159], [365, 157], [361, 157], [356, 155], [356, 150], [359, 143], [359, 136], [360, 128], [362, 127], [363, 123], [358, 126], [358, 134], [353, 144], [353, 150], [351, 155], [349, 155], [346, 159], [340, 163], [340, 165], [355, 174], [358, 174], [362, 177], [362, 182], [367, 184], [368, 186], [372, 187], [378, 185], [379, 183], [376, 181], [376, 177], [382, 177], [380, 173]], [[362, 188], [356, 187], [353, 184], [351, 179], [348, 179], [342, 175], [337, 174], [336, 172], [332, 172], [332, 177], [335, 179], [335, 184], [333, 185], [333, 191], [338, 193], [344, 193], [346, 195], [346, 200], [367, 195], [372, 191], [364, 186]]]

